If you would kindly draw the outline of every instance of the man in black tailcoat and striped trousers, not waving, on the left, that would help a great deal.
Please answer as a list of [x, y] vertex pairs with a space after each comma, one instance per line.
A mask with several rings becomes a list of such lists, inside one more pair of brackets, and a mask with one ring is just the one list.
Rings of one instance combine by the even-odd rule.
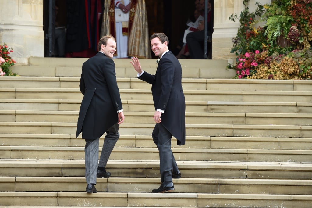
[[[124, 122], [113, 55], [116, 40], [108, 35], [100, 39], [98, 53], [82, 65], [80, 92], [84, 95], [77, 122], [76, 138], [85, 139], [86, 192], [96, 193], [96, 177], [108, 178], [105, 166], [119, 139], [119, 124]], [[99, 162], [99, 140], [106, 132]]]

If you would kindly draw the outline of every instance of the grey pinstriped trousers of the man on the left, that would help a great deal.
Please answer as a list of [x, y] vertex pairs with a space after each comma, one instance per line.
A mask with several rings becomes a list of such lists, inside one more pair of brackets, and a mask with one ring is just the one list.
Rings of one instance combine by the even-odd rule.
[[111, 126], [104, 137], [103, 148], [100, 155], [99, 162], [99, 141], [100, 138], [95, 140], [85, 140], [85, 179], [87, 183], [96, 184], [97, 167], [105, 167], [113, 151], [116, 142], [119, 139], [119, 124]]

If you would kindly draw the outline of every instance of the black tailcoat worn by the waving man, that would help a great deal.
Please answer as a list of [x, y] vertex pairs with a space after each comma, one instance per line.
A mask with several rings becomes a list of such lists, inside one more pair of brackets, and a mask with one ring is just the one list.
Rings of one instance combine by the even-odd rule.
[[161, 124], [185, 144], [185, 97], [182, 89], [182, 67], [171, 51], [158, 63], [155, 75], [145, 72], [139, 79], [152, 84], [154, 107], [163, 110]]

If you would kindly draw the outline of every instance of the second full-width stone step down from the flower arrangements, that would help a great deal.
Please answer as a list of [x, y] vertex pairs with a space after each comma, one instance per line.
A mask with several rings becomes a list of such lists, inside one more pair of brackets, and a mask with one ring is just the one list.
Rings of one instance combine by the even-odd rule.
[[[120, 89], [122, 100], [151, 100], [151, 90]], [[82, 99], [73, 88], [0, 88], [0, 99]], [[184, 90], [186, 101], [312, 102], [312, 92]]]

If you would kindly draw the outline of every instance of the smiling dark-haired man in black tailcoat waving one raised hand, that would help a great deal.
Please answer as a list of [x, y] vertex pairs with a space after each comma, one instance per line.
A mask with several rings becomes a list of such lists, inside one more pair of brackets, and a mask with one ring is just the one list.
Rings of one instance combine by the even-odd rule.
[[142, 70], [139, 59], [132, 57], [131, 64], [138, 72], [138, 78], [152, 84], [155, 107], [152, 132], [159, 151], [161, 185], [153, 193], [173, 191], [173, 178], [181, 178], [171, 150], [171, 138], [177, 138], [177, 145], [185, 144], [185, 97], [182, 89], [182, 68], [178, 59], [168, 50], [169, 40], [164, 33], [150, 37], [152, 51], [159, 57], [155, 75]]

